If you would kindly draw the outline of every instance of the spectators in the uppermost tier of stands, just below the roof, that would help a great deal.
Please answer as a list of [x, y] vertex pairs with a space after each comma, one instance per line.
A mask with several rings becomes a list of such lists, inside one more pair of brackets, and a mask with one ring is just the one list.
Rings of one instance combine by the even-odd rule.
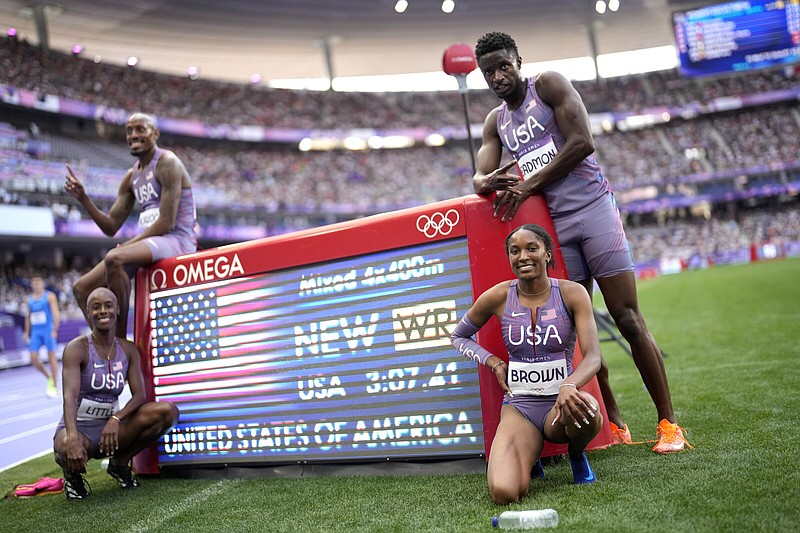
[[[343, 129], [426, 127], [463, 123], [457, 91], [336, 93], [267, 89], [261, 86], [191, 80], [140, 69], [94, 63], [80, 56], [43, 51], [16, 38], [0, 40], [0, 79], [20, 89], [82, 102], [139, 110], [209, 124], [274, 128]], [[793, 89], [793, 69], [731, 78], [687, 80], [677, 72], [582, 81], [575, 84], [589, 112], [639, 111], [651, 107], [706, 103], [722, 96]], [[151, 90], [158, 87], [158, 90]], [[471, 91], [470, 113], [483, 117], [497, 105], [488, 90]]]

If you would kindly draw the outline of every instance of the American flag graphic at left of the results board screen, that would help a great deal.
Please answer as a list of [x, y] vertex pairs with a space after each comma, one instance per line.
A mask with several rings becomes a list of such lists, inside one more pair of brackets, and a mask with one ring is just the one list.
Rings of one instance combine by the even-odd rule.
[[246, 278], [170, 291], [152, 301], [151, 354], [158, 397], [176, 399], [177, 393], [182, 401], [193, 401], [203, 394], [192, 391], [211, 396], [216, 393], [209, 389], [233, 395], [237, 389], [270, 389], [260, 374], [275, 369], [282, 358], [274, 353], [278, 361], [267, 357], [281, 338], [278, 323], [269, 323], [276, 314], [269, 308], [279, 302], [270, 298], [267, 285], [267, 280]]

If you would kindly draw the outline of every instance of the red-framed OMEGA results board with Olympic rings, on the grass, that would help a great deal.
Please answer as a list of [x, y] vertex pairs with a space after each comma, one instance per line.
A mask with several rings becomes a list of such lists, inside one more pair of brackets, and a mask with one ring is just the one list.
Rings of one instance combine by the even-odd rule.
[[[511, 278], [504, 240], [524, 222], [552, 231], [540, 198], [500, 223], [466, 196], [141, 270], [148, 392], [181, 416], [138, 470], [486, 454], [500, 389], [450, 334]], [[505, 354], [497, 328], [479, 341]]]

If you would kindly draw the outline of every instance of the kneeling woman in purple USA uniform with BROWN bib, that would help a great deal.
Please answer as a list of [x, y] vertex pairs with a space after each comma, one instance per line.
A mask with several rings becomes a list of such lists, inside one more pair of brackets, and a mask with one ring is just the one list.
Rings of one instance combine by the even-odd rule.
[[[567, 443], [575, 483], [593, 483], [584, 450], [603, 423], [597, 400], [580, 390], [600, 368], [586, 289], [547, 275], [553, 240], [541, 226], [512, 231], [506, 252], [517, 279], [481, 294], [451, 337], [463, 355], [490, 367], [505, 391], [488, 470], [489, 491], [498, 504], [519, 501], [528, 493], [531, 474], [542, 475], [545, 440]], [[492, 316], [502, 325], [508, 363], [472, 339]], [[583, 360], [573, 368], [576, 337]]]

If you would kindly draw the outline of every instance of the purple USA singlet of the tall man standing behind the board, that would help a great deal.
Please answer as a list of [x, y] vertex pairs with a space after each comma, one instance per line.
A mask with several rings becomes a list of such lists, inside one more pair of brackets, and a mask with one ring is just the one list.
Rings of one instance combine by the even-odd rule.
[[[536, 79], [528, 79], [525, 101], [510, 111], [497, 108], [497, 133], [514, 156], [524, 178], [542, 170], [564, 146], [553, 108], [536, 93]], [[580, 211], [609, 192], [608, 181], [593, 155], [586, 157], [566, 177], [542, 189], [553, 218]]]

